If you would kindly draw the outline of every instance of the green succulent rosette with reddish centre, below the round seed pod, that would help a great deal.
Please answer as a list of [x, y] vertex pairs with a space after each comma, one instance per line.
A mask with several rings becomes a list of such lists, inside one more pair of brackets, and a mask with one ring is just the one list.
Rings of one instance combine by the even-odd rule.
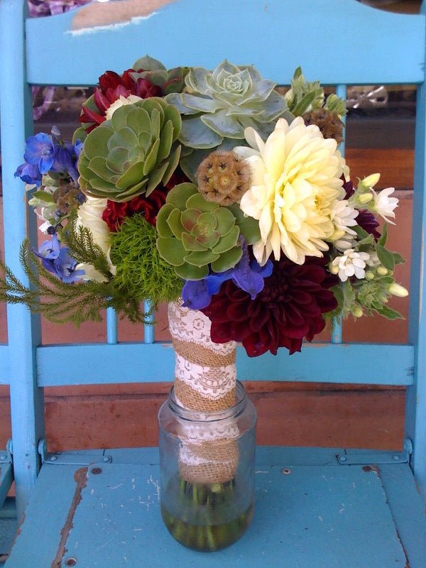
[[192, 183], [173, 187], [157, 215], [157, 249], [184, 280], [202, 280], [212, 271], [234, 268], [242, 256], [239, 237], [260, 238], [258, 222], [238, 204], [207, 202]]

